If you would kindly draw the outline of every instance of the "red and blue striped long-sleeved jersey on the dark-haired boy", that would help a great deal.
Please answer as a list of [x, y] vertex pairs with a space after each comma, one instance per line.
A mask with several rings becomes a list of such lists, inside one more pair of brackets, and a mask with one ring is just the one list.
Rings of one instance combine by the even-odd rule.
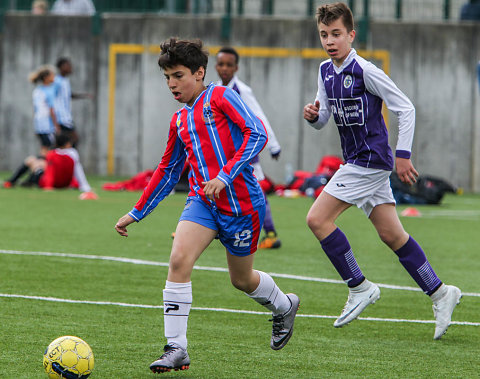
[[[162, 160], [129, 215], [140, 221], [153, 211], [179, 181], [187, 158], [189, 196], [200, 196], [224, 214], [250, 213], [265, 202], [250, 161], [266, 143], [265, 127], [240, 96], [210, 84], [191, 107], [185, 105], [173, 115]], [[226, 187], [211, 201], [202, 182], [214, 178]]]

